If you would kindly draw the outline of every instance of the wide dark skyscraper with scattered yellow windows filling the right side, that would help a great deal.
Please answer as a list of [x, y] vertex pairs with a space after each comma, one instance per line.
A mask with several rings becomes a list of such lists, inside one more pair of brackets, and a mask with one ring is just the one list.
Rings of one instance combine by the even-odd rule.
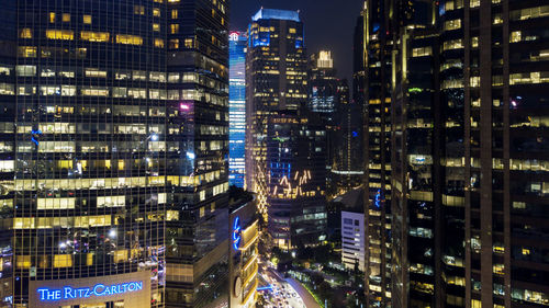
[[546, 306], [549, 7], [408, 1], [384, 12], [392, 306]]

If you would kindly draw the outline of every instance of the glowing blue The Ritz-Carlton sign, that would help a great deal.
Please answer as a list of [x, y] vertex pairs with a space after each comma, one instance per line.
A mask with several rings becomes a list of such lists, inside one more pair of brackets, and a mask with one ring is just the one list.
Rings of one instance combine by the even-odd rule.
[[113, 296], [138, 292], [143, 289], [143, 282], [130, 282], [114, 285], [97, 284], [92, 287], [74, 288], [64, 286], [61, 289], [38, 288], [41, 301], [68, 300], [90, 297]]

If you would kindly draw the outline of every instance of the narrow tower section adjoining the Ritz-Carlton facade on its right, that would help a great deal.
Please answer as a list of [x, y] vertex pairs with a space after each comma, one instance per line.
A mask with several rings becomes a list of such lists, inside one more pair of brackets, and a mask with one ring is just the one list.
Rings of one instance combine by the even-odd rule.
[[167, 213], [178, 215], [166, 223], [167, 307], [227, 301], [228, 5], [167, 3]]

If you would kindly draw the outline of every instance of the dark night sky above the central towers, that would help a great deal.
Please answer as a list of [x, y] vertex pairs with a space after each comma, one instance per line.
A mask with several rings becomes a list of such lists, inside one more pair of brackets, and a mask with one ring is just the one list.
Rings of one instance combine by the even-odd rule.
[[352, 33], [362, 0], [231, 0], [231, 30], [245, 31], [261, 7], [300, 10], [307, 54], [333, 50], [339, 78], [352, 76]]

